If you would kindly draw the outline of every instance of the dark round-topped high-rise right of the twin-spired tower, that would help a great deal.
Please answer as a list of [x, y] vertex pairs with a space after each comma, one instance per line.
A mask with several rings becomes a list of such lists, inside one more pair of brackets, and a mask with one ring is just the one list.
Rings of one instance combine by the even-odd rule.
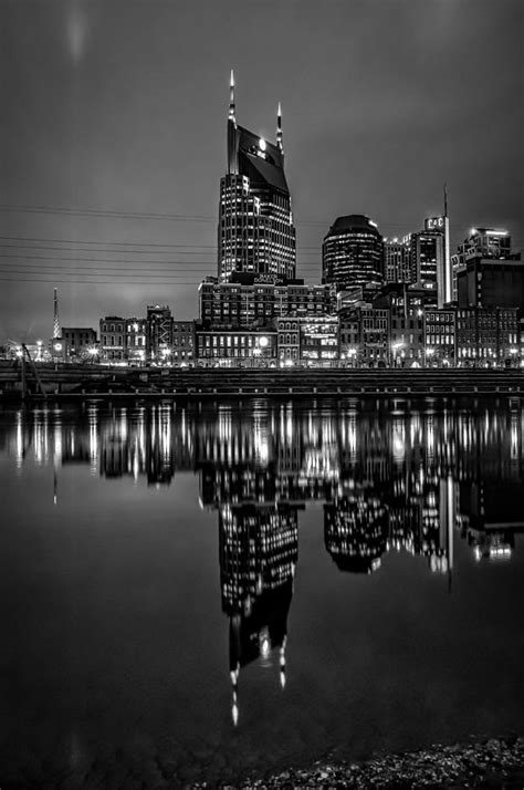
[[376, 290], [384, 281], [382, 237], [368, 217], [338, 217], [324, 237], [322, 282], [347, 291], [357, 285]]

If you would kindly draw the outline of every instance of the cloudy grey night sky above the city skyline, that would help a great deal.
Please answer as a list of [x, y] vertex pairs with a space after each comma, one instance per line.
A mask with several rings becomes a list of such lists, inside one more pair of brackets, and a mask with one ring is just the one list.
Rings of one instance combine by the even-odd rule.
[[231, 67], [241, 125], [282, 103], [298, 277], [337, 216], [402, 236], [444, 181], [452, 251], [520, 249], [523, 33], [522, 0], [0, 0], [0, 342], [51, 336], [54, 284], [67, 326], [197, 316]]

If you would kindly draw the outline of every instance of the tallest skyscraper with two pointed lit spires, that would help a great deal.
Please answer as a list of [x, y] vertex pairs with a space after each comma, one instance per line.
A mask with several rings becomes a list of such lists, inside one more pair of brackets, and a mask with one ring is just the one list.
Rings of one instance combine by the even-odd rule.
[[295, 277], [295, 227], [284, 174], [280, 104], [275, 144], [237, 124], [233, 72], [218, 237], [220, 279], [232, 272], [252, 272], [269, 281]]

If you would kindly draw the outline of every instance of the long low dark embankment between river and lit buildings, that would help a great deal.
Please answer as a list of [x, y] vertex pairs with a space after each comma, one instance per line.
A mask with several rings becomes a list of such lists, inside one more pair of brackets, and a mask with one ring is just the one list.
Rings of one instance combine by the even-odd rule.
[[524, 394], [524, 370], [135, 368], [0, 363], [6, 397], [461, 396]]

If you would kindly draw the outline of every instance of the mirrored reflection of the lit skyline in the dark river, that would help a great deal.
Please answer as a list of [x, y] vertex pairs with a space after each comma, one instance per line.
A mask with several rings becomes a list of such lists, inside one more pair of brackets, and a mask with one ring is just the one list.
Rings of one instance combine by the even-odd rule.
[[285, 685], [298, 511], [323, 502], [325, 549], [342, 572], [376, 572], [389, 551], [425, 558], [451, 584], [453, 536], [478, 561], [507, 560], [524, 526], [522, 407], [428, 404], [366, 410], [260, 402], [24, 408], [6, 451], [61, 468], [86, 464], [105, 481], [170, 485], [199, 475], [218, 511], [222, 610], [230, 627], [232, 717], [242, 667], [276, 667]]

